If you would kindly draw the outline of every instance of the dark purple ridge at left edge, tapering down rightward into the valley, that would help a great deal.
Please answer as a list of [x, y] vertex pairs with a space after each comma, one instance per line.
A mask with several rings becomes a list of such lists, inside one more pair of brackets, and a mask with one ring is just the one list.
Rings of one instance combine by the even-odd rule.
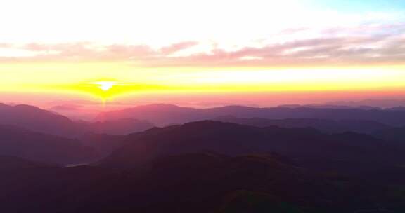
[[46, 163], [86, 163], [96, 153], [78, 140], [0, 125], [0, 155]]

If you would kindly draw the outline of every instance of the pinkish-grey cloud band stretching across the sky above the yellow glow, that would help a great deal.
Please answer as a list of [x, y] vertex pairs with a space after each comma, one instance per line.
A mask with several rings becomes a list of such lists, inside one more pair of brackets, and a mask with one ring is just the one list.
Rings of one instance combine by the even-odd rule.
[[[29, 50], [31, 57], [4, 56], [1, 60], [40, 61], [122, 61], [144, 67], [271, 67], [309, 64], [370, 64], [405, 62], [405, 23], [359, 25], [330, 29], [285, 29], [255, 45], [226, 48], [221, 43], [207, 46], [209, 51], [194, 49], [198, 41], [173, 43], [161, 48], [147, 45], [77, 43], [28, 43], [16, 46], [1, 43], [1, 48]], [[309, 36], [311, 35], [311, 36]], [[287, 38], [287, 39], [285, 39]], [[193, 50], [188, 55], [176, 55]], [[189, 52], [189, 51], [188, 51]]]

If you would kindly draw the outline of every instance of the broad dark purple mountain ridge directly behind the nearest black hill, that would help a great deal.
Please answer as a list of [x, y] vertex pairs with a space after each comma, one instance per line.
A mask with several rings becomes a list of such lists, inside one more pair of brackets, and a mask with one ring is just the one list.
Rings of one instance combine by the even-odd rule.
[[154, 128], [129, 135], [126, 140], [122, 148], [101, 160], [100, 165], [147, 167], [158, 156], [200, 151], [229, 156], [271, 151], [291, 158], [354, 160], [368, 165], [398, 157], [389, 144], [369, 135], [349, 132], [328, 135], [312, 128], [257, 128], [219, 121]]

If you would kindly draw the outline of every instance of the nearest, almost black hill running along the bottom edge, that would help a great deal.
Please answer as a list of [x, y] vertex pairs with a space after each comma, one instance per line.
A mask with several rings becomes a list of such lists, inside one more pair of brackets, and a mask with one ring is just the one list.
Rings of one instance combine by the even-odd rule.
[[89, 166], [13, 170], [1, 175], [0, 188], [0, 210], [9, 213], [354, 213], [388, 206], [384, 193], [391, 192], [361, 181], [338, 184], [274, 153], [160, 156], [143, 173]]

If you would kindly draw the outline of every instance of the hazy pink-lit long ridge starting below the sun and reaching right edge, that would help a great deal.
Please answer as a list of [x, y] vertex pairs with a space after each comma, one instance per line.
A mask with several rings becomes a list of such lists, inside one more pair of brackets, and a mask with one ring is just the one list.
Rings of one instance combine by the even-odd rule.
[[385, 125], [405, 125], [405, 111], [381, 109], [323, 109], [313, 107], [242, 107], [227, 106], [210, 109], [177, 107], [171, 104], [150, 104], [129, 109], [109, 111], [99, 114], [98, 121], [120, 118], [147, 120], [156, 125], [170, 123], [187, 123], [217, 118], [219, 116], [236, 116], [240, 118], [319, 118], [330, 120], [366, 120], [377, 121]]

